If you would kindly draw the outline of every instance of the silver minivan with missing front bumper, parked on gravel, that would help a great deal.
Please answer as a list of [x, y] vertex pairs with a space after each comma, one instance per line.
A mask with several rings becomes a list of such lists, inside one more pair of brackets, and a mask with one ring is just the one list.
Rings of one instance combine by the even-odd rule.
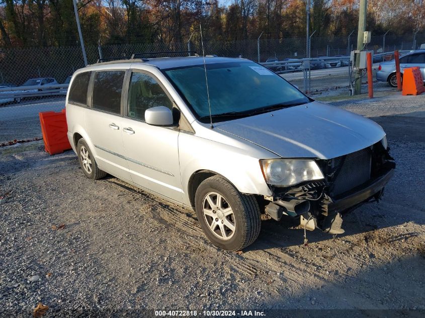
[[314, 101], [245, 59], [112, 61], [77, 70], [68, 139], [90, 179], [110, 173], [196, 211], [216, 246], [253, 243], [261, 214], [343, 233], [395, 163], [382, 128]]

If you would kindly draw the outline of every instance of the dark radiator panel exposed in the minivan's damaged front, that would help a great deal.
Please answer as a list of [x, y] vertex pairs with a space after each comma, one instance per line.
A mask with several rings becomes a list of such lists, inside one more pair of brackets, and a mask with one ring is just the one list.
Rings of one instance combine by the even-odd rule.
[[335, 166], [341, 165], [333, 181], [333, 195], [337, 196], [370, 179], [371, 153], [368, 148], [334, 159]]

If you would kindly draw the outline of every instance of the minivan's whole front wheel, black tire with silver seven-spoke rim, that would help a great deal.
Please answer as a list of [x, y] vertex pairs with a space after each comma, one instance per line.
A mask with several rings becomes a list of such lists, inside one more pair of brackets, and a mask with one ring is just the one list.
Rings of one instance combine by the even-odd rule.
[[223, 177], [212, 176], [199, 185], [195, 209], [207, 238], [223, 250], [240, 251], [260, 234], [257, 200], [240, 193]]

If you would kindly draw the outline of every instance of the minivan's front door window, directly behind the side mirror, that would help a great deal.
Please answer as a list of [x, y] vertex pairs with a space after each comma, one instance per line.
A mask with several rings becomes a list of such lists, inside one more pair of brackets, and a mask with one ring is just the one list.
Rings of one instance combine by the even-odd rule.
[[145, 111], [156, 106], [165, 106], [173, 110], [173, 102], [153, 77], [143, 73], [132, 73], [128, 89], [128, 116], [144, 120]]

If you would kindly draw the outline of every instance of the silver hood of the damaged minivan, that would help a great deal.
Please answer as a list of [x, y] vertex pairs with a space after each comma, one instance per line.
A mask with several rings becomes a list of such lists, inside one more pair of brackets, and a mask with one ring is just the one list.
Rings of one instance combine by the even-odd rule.
[[215, 126], [284, 158], [331, 159], [385, 136], [375, 122], [318, 101]]

